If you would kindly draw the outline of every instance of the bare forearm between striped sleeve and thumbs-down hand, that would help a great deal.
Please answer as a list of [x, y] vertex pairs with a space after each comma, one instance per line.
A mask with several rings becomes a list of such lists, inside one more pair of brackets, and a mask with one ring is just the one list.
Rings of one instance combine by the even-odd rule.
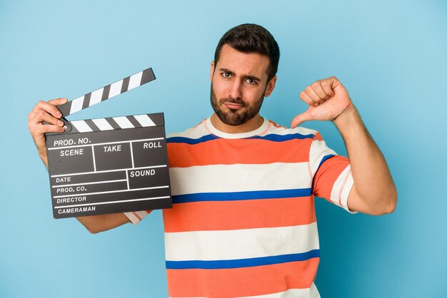
[[393, 212], [397, 200], [393, 178], [355, 106], [348, 108], [333, 123], [343, 137], [351, 163], [354, 187], [348, 206], [374, 215]]

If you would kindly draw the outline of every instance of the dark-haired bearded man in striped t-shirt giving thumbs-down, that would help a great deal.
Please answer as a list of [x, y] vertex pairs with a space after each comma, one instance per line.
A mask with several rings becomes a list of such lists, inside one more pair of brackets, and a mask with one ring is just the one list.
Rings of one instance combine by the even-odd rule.
[[[337, 78], [301, 92], [309, 107], [291, 129], [259, 115], [275, 88], [278, 60], [278, 45], [263, 27], [228, 31], [211, 62], [215, 113], [167, 139], [174, 203], [163, 210], [170, 297], [319, 297], [314, 195], [349, 212], [381, 215], [396, 207], [386, 161]], [[65, 102], [41, 101], [29, 114], [44, 163], [44, 133], [63, 131], [56, 105]], [[350, 160], [316, 130], [296, 128], [306, 120], [332, 120]], [[148, 213], [78, 220], [95, 233]]]

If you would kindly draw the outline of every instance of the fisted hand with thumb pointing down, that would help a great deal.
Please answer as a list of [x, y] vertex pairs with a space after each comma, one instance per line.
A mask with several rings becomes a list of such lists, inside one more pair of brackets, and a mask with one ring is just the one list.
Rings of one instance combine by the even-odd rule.
[[307, 86], [300, 98], [309, 108], [293, 118], [291, 128], [308, 120], [333, 120], [351, 106], [348, 91], [335, 76]]

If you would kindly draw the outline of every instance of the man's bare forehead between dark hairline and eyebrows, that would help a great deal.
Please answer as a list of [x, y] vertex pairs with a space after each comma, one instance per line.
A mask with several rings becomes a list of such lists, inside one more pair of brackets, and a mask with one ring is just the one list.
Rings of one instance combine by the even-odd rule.
[[226, 44], [221, 48], [216, 70], [226, 68], [236, 73], [236, 75], [257, 76], [263, 79], [267, 78], [269, 63], [270, 61], [267, 56], [259, 53], [242, 53]]

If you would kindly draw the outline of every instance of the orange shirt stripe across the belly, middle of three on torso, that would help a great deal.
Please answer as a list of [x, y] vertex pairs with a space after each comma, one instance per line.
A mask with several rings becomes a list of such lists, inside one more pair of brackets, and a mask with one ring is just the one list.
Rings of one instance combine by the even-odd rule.
[[316, 222], [313, 197], [186, 202], [163, 210], [165, 232], [289, 227]]

